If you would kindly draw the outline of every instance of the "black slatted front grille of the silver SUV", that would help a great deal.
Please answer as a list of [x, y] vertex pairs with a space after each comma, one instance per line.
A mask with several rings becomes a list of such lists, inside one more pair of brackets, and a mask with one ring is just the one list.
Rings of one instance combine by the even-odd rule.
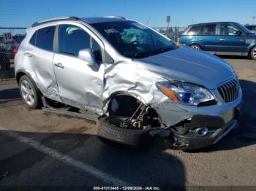
[[218, 91], [226, 103], [236, 100], [239, 91], [238, 79], [231, 79], [222, 85], [219, 85]]

